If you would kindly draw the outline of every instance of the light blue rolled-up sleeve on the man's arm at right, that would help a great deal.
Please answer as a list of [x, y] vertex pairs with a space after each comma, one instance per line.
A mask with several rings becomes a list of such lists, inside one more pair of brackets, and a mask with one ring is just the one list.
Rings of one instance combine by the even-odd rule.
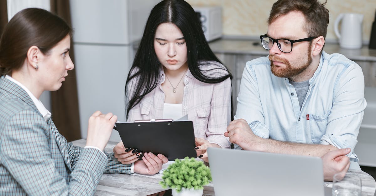
[[331, 144], [337, 148], [351, 148], [347, 155], [358, 162], [353, 152], [358, 140], [359, 128], [367, 103], [364, 99], [364, 76], [359, 66], [344, 69], [336, 81], [334, 102], [328, 117], [325, 134], [320, 144]]

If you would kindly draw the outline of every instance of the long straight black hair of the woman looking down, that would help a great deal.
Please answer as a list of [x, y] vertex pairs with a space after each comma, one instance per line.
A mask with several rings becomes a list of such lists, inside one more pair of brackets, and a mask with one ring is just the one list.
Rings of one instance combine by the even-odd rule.
[[[132, 68], [130, 68], [125, 94], [126, 100], [126, 116], [128, 117], [130, 109], [135, 107], [147, 93], [150, 93], [155, 89], [161, 78], [159, 78], [159, 71], [162, 64], [159, 62], [154, 48], [154, 36], [157, 27], [162, 23], [173, 23], [183, 33], [186, 47], [187, 47], [187, 63], [188, 68], [192, 75], [199, 81], [205, 83], [220, 83], [227, 78], [232, 79], [232, 75], [226, 67], [218, 69], [226, 69], [227, 75], [221, 77], [210, 77], [210, 75], [204, 75], [199, 61], [216, 61], [220, 60], [214, 55], [210, 49], [208, 42], [206, 42], [204, 32], [199, 18], [193, 8], [184, 0], [163, 0], [159, 2], [150, 12], [147, 19], [143, 37], [139, 44], [135, 59], [133, 60]], [[223, 63], [221, 63], [223, 64]], [[207, 65], [207, 64], [206, 64]], [[223, 72], [223, 71], [221, 71]], [[133, 78], [137, 78], [133, 92], [127, 93], [127, 86], [130, 85], [130, 81]], [[129, 94], [129, 95], [128, 95]], [[231, 96], [231, 119], [233, 119], [232, 112], [232, 96]]]

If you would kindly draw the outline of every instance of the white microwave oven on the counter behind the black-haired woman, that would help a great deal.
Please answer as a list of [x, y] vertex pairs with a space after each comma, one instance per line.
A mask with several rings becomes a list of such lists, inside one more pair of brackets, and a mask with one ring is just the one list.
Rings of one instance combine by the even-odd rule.
[[220, 38], [222, 36], [222, 7], [203, 6], [193, 9], [200, 18], [206, 41]]

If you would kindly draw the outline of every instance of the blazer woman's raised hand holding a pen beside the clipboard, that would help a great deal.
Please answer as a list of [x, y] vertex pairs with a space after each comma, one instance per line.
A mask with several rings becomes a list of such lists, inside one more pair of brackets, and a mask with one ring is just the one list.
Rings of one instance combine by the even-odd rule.
[[100, 111], [94, 112], [89, 118], [86, 146], [95, 146], [103, 151], [116, 121], [117, 116], [112, 113], [104, 115]]

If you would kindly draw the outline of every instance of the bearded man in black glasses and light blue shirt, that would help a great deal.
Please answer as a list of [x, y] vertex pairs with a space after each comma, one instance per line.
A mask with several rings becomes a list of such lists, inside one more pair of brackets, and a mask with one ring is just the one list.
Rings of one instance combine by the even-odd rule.
[[355, 62], [323, 51], [325, 3], [273, 4], [260, 37], [269, 55], [247, 62], [225, 133], [235, 148], [317, 157], [350, 148], [350, 169], [360, 170], [353, 149], [366, 107], [364, 76]]

